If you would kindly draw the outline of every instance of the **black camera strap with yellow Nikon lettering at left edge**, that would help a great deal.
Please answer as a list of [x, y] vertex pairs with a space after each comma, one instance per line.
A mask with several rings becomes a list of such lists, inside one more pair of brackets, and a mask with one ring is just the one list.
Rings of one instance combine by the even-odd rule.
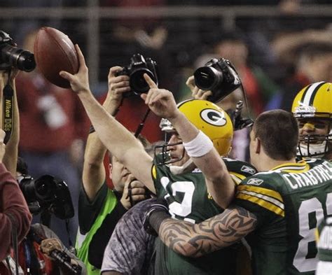
[[[8, 73], [9, 76], [11, 73]], [[3, 111], [3, 119], [2, 119], [2, 129], [6, 133], [4, 138], [4, 143], [6, 144], [11, 138], [11, 133], [13, 132], [13, 102], [14, 102], [14, 90], [13, 87], [8, 83], [5, 85], [4, 90], [2, 91], [3, 99], [2, 99], [2, 111]]]

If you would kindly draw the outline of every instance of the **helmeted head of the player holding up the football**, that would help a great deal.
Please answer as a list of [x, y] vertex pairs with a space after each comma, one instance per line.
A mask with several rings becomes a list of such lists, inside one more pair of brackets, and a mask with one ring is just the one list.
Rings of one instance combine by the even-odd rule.
[[[219, 155], [229, 153], [233, 139], [233, 125], [230, 117], [223, 109], [212, 102], [199, 99], [182, 101], [178, 104], [178, 108], [195, 127], [211, 139]], [[170, 160], [166, 164], [184, 165], [189, 157], [184, 151], [181, 137], [177, 134], [176, 129], [167, 120], [162, 120], [160, 127], [162, 131], [172, 134], [167, 145], [160, 146], [164, 155], [167, 153], [170, 156]]]

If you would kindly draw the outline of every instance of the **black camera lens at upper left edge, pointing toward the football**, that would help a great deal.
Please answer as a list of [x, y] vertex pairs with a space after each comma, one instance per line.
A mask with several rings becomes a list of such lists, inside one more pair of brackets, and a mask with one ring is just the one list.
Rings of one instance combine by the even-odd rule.
[[1, 49], [1, 59], [3, 62], [20, 69], [21, 71], [32, 71], [36, 68], [34, 55], [32, 52], [16, 48], [12, 45], [6, 45]]

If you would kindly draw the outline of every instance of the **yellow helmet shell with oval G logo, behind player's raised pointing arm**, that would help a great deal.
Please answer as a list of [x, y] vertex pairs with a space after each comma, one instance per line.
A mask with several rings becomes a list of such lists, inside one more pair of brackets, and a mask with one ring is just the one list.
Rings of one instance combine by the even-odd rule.
[[214, 143], [219, 155], [227, 155], [233, 139], [232, 120], [210, 101], [190, 99], [178, 104], [179, 111]]

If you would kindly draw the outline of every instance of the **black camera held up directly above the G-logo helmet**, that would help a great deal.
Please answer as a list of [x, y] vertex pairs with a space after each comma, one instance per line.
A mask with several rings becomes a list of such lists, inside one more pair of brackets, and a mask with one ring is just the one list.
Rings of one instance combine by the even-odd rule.
[[207, 100], [218, 102], [240, 87], [241, 80], [228, 59], [213, 58], [194, 73], [195, 85], [201, 90], [210, 90]]

